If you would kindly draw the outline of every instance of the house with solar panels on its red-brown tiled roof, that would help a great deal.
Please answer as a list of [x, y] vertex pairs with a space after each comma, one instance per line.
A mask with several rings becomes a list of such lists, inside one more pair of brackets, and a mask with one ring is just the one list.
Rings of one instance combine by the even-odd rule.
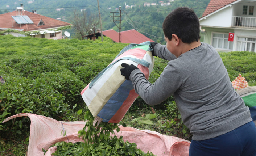
[[[33, 12], [25, 11], [21, 7], [17, 7], [15, 11], [0, 14], [0, 31], [7, 29], [18, 31], [29, 31], [32, 37], [61, 39], [62, 30], [57, 30], [63, 26], [71, 24], [56, 20], [50, 17], [42, 16]], [[11, 32], [13, 36], [24, 36], [20, 33]]]

